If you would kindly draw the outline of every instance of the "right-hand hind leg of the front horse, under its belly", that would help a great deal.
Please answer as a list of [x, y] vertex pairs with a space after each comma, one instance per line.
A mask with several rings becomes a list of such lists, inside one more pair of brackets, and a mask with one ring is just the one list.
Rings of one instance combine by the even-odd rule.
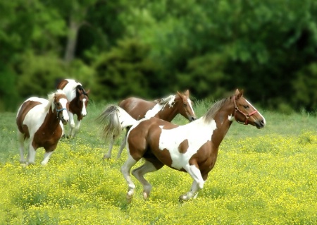
[[163, 165], [164, 164], [159, 162], [159, 160], [156, 161], [155, 166], [152, 162], [145, 161], [142, 166], [139, 166], [137, 169], [132, 170], [132, 175], [135, 176], [135, 178], [137, 178], [140, 183], [142, 183], [144, 200], [147, 200], [152, 189], [151, 184], [144, 178], [144, 174], [157, 171], [161, 169]]

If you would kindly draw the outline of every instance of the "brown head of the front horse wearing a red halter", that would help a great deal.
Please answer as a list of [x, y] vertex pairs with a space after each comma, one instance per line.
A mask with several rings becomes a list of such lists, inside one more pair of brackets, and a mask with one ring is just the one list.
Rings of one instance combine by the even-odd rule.
[[234, 118], [238, 123], [251, 124], [260, 129], [266, 126], [266, 119], [257, 111], [247, 99], [243, 97], [243, 90], [235, 91], [232, 97], [235, 105]]

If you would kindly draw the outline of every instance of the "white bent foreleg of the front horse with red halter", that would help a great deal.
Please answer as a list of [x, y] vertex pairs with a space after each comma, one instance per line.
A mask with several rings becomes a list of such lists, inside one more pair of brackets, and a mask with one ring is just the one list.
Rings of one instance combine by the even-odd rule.
[[201, 176], [201, 171], [197, 168], [196, 165], [187, 165], [184, 168], [190, 176], [194, 179], [192, 183], [192, 188], [184, 195], [180, 195], [180, 201], [191, 200], [192, 198], [196, 198], [199, 190], [204, 188], [204, 179]]

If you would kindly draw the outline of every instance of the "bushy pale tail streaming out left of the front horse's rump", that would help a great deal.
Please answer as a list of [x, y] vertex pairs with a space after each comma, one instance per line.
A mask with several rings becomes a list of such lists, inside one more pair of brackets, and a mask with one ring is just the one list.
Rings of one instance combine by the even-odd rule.
[[97, 117], [97, 121], [102, 128], [102, 135], [106, 140], [118, 138], [123, 129], [137, 122], [137, 120], [132, 118], [124, 109], [114, 104], [108, 105]]

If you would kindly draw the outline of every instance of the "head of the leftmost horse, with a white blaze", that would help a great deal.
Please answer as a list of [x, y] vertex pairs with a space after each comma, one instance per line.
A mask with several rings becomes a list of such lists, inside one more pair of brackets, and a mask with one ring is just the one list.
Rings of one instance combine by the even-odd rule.
[[54, 95], [54, 108], [56, 109], [57, 118], [59, 118], [64, 125], [68, 123], [69, 116], [68, 110], [68, 100], [63, 91], [58, 90]]

